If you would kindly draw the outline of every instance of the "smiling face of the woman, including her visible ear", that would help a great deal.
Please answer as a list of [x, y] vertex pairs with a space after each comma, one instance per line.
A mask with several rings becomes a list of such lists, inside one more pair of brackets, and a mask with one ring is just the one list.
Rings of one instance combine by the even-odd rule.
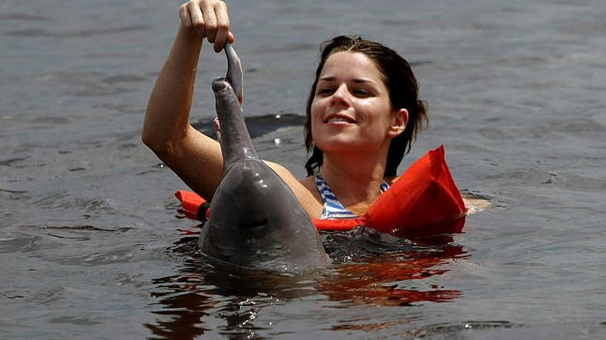
[[[406, 111], [405, 109], [399, 111]], [[375, 62], [362, 53], [328, 57], [311, 104], [311, 133], [323, 152], [377, 152], [406, 125], [391, 109], [389, 93]]]

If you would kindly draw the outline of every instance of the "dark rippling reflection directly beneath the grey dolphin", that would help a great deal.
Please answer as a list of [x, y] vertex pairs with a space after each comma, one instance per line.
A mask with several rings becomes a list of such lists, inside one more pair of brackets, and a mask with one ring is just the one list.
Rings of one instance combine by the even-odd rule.
[[[176, 242], [171, 251], [188, 256], [181, 275], [154, 280], [160, 291], [151, 339], [196, 339], [212, 330], [227, 339], [264, 339], [255, 323], [263, 308], [314, 292], [310, 277], [244, 270], [203, 258], [197, 238]], [[218, 322], [219, 321], [219, 322]]]

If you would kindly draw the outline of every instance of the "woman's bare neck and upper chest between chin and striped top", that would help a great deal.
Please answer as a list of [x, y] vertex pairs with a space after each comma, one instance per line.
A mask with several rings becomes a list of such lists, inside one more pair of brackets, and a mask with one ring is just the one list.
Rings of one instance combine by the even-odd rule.
[[386, 157], [386, 150], [370, 155], [325, 153], [320, 174], [344, 206], [364, 209], [381, 194]]

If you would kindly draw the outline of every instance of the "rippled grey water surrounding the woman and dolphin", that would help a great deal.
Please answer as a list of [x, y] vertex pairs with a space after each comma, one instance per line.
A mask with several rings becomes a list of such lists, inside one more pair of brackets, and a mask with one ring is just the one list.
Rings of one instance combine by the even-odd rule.
[[[401, 169], [445, 144], [494, 207], [452, 240], [326, 235], [328, 273], [228, 275], [176, 232], [185, 187], [139, 137], [180, 3], [3, 0], [0, 339], [606, 338], [606, 2], [229, 4], [262, 157], [304, 175], [290, 114], [317, 47], [362, 34], [429, 103]], [[207, 52], [198, 126], [224, 73]]]

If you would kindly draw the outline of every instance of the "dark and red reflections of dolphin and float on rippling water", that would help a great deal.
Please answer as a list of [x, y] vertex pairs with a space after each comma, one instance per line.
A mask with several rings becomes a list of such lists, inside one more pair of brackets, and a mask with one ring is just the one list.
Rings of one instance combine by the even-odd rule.
[[154, 280], [158, 308], [152, 312], [154, 324], [145, 325], [154, 335], [151, 339], [196, 339], [207, 333], [227, 339], [264, 339], [258, 333], [271, 331], [267, 317], [258, 321], [264, 308], [305, 297], [320, 297], [321, 302], [331, 302], [331, 308], [348, 308], [449, 302], [462, 294], [424, 281], [446, 273], [448, 262], [468, 256], [449, 236], [406, 240], [359, 228], [323, 238], [335, 265], [309, 275], [226, 268], [197, 253], [196, 237], [182, 238], [170, 249], [187, 258], [180, 275]]

